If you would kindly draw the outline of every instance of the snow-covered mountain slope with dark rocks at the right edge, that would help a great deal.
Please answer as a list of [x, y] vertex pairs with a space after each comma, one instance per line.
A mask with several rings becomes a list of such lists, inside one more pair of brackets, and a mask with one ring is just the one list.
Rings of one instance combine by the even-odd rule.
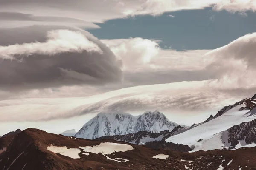
[[[255, 115], [255, 97], [243, 99], [225, 106], [215, 116], [211, 115], [202, 123], [179, 129], [166, 139], [166, 142], [188, 145], [193, 152], [253, 147]], [[249, 141], [253, 141], [253, 144]]]

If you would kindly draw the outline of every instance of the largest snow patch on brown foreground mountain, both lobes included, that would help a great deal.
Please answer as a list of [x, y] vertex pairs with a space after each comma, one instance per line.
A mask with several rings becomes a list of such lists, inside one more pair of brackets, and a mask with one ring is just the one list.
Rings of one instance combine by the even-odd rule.
[[[81, 150], [83, 150], [85, 153], [82, 153], [84, 155], [89, 156], [90, 153], [102, 153], [103, 156], [105, 156], [109, 160], [113, 160], [116, 162], [121, 162], [116, 159], [109, 158], [108, 154], [114, 153], [114, 152], [126, 152], [128, 150], [133, 150], [134, 148], [131, 145], [128, 144], [118, 144], [118, 143], [111, 143], [111, 142], [105, 142], [101, 143], [96, 146], [85, 146], [85, 147], [79, 147], [79, 149], [76, 148], [70, 148], [68, 149], [66, 146], [58, 147], [58, 146], [51, 146], [47, 147], [47, 150], [50, 150], [54, 153], [60, 153], [61, 155], [68, 156], [70, 158], [78, 159], [80, 158], [79, 153], [81, 153]], [[118, 158], [122, 159], [122, 158]], [[129, 161], [127, 159], [122, 159], [126, 161]]]

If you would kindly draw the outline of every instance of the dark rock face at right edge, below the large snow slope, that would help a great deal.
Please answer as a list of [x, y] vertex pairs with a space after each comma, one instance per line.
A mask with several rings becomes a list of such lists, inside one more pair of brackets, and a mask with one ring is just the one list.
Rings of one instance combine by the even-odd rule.
[[228, 142], [235, 147], [239, 141], [246, 144], [256, 143], [256, 119], [250, 122], [242, 122], [227, 130], [229, 132]]

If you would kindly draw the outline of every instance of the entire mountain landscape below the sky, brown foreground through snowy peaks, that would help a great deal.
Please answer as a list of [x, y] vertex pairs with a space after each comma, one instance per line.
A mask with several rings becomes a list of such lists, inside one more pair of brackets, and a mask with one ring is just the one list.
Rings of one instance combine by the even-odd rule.
[[76, 134], [18, 129], [0, 137], [0, 169], [256, 170], [255, 116], [256, 94], [192, 126], [154, 111], [99, 113]]

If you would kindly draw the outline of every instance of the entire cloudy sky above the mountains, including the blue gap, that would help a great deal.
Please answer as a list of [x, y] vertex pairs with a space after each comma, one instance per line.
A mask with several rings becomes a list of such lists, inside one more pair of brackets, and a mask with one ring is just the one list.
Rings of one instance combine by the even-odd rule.
[[256, 0], [0, 0], [0, 136], [99, 112], [202, 122], [256, 93]]

